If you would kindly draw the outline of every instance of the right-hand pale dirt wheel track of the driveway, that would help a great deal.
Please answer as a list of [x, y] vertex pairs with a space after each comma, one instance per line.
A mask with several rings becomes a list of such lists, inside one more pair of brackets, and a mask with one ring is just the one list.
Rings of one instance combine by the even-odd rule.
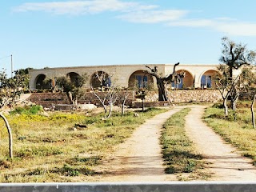
[[206, 106], [191, 106], [186, 116], [186, 132], [197, 146], [198, 152], [209, 162], [213, 181], [256, 181], [256, 168], [252, 160], [238, 154], [238, 150], [227, 144], [202, 122]]

